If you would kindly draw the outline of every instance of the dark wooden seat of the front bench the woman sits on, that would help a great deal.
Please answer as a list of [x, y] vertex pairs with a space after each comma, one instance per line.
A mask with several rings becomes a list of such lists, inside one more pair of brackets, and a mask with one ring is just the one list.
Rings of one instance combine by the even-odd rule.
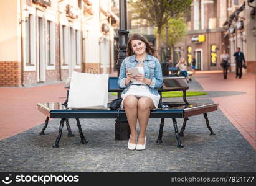
[[[168, 103], [164, 102], [168, 105]], [[163, 110], [161, 108], [151, 110], [149, 118], [183, 118], [201, 113], [217, 110], [218, 104], [190, 104], [173, 105], [171, 108]], [[116, 118], [117, 110], [70, 110], [61, 103], [40, 103], [37, 104], [40, 112], [50, 118]], [[120, 118], [125, 119], [125, 110], [120, 111]]]

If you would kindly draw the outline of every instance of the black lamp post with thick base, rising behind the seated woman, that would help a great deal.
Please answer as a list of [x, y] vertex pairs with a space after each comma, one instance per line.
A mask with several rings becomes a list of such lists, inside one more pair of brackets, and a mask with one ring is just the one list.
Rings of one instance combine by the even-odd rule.
[[[126, 56], [126, 44], [128, 40], [127, 30], [127, 5], [126, 0], [119, 0], [119, 19], [120, 19], [120, 29], [118, 30], [119, 34], [119, 46], [118, 46], [118, 60], [116, 63], [117, 76], [120, 74], [120, 67], [123, 63], [123, 60]], [[118, 93], [118, 97], [121, 97]], [[115, 123], [115, 139], [116, 140], [128, 140], [130, 138], [130, 127], [127, 120], [117, 120]]]

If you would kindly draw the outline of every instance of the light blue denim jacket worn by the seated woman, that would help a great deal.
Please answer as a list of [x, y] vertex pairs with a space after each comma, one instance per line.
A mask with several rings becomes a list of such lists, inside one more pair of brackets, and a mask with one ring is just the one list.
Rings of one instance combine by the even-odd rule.
[[[138, 64], [139, 62], [136, 60], [136, 55], [129, 56], [123, 60], [118, 78], [118, 86], [122, 89], [124, 88], [121, 94], [125, 94], [131, 85], [131, 82], [127, 86], [125, 85], [126, 69], [136, 67], [138, 66]], [[154, 56], [151, 56], [148, 53], [146, 54], [146, 58], [143, 61], [143, 64], [145, 78], [152, 80], [151, 84], [147, 86], [149, 87], [151, 94], [158, 95], [158, 89], [160, 89], [163, 85], [161, 64], [159, 63], [158, 58], [155, 58]]]

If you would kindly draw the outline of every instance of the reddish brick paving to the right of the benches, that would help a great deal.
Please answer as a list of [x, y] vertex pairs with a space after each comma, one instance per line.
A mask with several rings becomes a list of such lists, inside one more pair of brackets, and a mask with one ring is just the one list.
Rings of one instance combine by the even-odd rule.
[[207, 71], [196, 72], [194, 78], [205, 91], [245, 92], [239, 95], [212, 97], [212, 100], [219, 104], [220, 110], [256, 149], [255, 74], [245, 74], [242, 79], [236, 79], [234, 73], [229, 73], [227, 79], [223, 79], [222, 71]]

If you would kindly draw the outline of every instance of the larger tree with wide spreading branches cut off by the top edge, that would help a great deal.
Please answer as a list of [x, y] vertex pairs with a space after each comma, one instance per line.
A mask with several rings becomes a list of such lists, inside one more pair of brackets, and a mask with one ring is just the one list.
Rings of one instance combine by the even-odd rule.
[[134, 19], [146, 19], [156, 27], [156, 51], [160, 54], [161, 32], [171, 18], [184, 17], [190, 12], [192, 0], [137, 0], [132, 2]]

